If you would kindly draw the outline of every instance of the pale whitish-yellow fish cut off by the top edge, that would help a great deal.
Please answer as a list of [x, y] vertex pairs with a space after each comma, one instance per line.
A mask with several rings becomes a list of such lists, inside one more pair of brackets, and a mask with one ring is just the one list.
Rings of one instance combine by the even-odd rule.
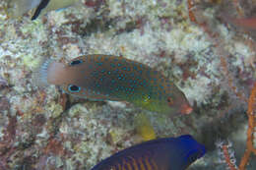
[[35, 8], [32, 20], [41, 13], [67, 8], [80, 0], [10, 0], [8, 14], [11, 17], [19, 17]]

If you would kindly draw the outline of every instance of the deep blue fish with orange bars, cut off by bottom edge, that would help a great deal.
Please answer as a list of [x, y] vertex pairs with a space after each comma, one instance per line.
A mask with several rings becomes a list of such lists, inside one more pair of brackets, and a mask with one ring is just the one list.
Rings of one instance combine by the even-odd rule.
[[91, 170], [184, 170], [205, 153], [204, 145], [185, 135], [131, 146]]

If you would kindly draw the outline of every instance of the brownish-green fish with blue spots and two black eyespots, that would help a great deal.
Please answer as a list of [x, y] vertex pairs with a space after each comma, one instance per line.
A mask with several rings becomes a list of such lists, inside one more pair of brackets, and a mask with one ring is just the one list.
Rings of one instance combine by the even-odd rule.
[[64, 91], [79, 97], [128, 101], [168, 114], [192, 111], [183, 92], [160, 72], [123, 57], [86, 55], [68, 65], [47, 60], [35, 75], [39, 85], [61, 85]]

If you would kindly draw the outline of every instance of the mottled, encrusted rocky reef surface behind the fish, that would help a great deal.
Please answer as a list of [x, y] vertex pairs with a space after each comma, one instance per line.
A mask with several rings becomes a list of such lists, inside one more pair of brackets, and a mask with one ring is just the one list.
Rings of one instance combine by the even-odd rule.
[[[253, 31], [222, 20], [222, 1], [197, 1], [198, 15], [218, 32], [219, 45], [189, 20], [185, 0], [89, 0], [33, 22], [30, 13], [8, 18], [6, 2], [0, 2], [1, 170], [90, 170], [102, 158], [142, 142], [134, 123], [140, 113], [150, 117], [157, 138], [190, 134], [206, 145], [207, 154], [190, 170], [226, 169], [218, 141], [232, 143], [230, 151], [239, 163], [247, 103], [231, 86], [248, 98], [256, 77], [255, 46], [248, 45]], [[244, 6], [247, 16], [256, 6], [249, 2], [249, 9]], [[161, 71], [186, 94], [194, 111], [170, 118], [132, 104], [93, 102], [67, 95], [59, 86], [33, 84], [32, 72], [41, 58], [67, 62], [84, 54], [124, 56]], [[247, 169], [256, 169], [255, 155]]]

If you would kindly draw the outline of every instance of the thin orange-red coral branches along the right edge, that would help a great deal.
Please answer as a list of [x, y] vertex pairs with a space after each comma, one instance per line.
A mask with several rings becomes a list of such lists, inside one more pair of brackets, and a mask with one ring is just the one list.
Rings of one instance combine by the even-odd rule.
[[[224, 42], [220, 38], [220, 34], [216, 31], [213, 31], [207, 23], [199, 23], [197, 22], [195, 18], [195, 14], [192, 12], [191, 8], [193, 7], [192, 0], [188, 0], [188, 10], [189, 10], [189, 18], [192, 22], [196, 23], [200, 28], [202, 28], [211, 38], [214, 45], [217, 47], [216, 52], [220, 56], [221, 60], [221, 67], [222, 71], [225, 77], [227, 77], [227, 85], [232, 89], [232, 91], [235, 93], [235, 95], [242, 101], [245, 101], [248, 103], [248, 110], [247, 110], [247, 116], [248, 116], [248, 129], [247, 129], [247, 140], [246, 140], [246, 150], [244, 152], [244, 155], [240, 161], [239, 168], [236, 167], [235, 163], [232, 161], [231, 157], [233, 154], [230, 154], [228, 150], [228, 146], [224, 144], [224, 142], [220, 142], [218, 146], [221, 148], [221, 153], [224, 159], [224, 163], [227, 165], [227, 167], [230, 170], [245, 170], [246, 165], [249, 162], [250, 155], [255, 154], [256, 155], [256, 148], [254, 148], [254, 128], [256, 127], [256, 83], [254, 83], [254, 86], [251, 90], [251, 94], [249, 99], [247, 99], [243, 93], [239, 92], [236, 85], [233, 83], [233, 78], [228, 72], [228, 65], [226, 61], [227, 52], [224, 50]], [[237, 0], [233, 0], [233, 6], [235, 7], [237, 13], [239, 16], [243, 16], [243, 11], [239, 5], [239, 2]], [[195, 12], [195, 10], [194, 10]], [[247, 41], [248, 42], [248, 41]], [[255, 43], [253, 41], [249, 41], [250, 46], [254, 45]]]

